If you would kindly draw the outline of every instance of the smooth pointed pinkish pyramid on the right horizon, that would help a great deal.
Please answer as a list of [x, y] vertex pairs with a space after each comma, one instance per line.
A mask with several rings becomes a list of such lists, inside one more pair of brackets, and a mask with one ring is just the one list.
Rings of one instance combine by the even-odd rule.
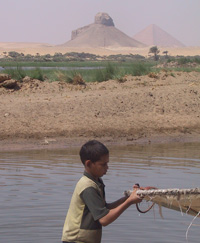
[[147, 28], [134, 35], [133, 39], [140, 41], [147, 46], [184, 47], [183, 43], [155, 24], [149, 25]]

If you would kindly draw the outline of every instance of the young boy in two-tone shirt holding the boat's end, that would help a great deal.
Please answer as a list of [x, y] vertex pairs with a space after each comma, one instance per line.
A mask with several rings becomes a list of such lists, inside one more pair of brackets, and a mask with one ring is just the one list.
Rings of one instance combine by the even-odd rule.
[[116, 220], [130, 205], [142, 201], [136, 189], [130, 197], [106, 203], [101, 179], [108, 170], [109, 151], [96, 140], [85, 143], [80, 150], [84, 175], [74, 190], [65, 224], [63, 243], [100, 243], [102, 226]]

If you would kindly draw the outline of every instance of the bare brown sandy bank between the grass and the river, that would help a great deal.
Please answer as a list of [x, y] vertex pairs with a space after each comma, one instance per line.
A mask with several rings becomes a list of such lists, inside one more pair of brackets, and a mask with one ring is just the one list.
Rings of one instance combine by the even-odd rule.
[[75, 86], [33, 80], [0, 88], [0, 150], [199, 142], [200, 73], [161, 72]]

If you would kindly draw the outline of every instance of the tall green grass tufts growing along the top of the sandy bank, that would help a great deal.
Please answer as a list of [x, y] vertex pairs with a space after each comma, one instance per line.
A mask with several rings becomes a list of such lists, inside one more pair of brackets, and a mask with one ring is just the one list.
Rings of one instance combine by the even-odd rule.
[[13, 79], [22, 80], [25, 76], [33, 79], [63, 81], [73, 83], [74, 77], [81, 75], [86, 82], [102, 82], [109, 79], [120, 79], [124, 75], [141, 76], [147, 74], [153, 64], [151, 63], [120, 63], [106, 62], [96, 69], [79, 69], [79, 70], [62, 70], [58, 68], [42, 69], [36, 67], [34, 69], [22, 69], [21, 66], [16, 68], [6, 68], [3, 73], [9, 74]]

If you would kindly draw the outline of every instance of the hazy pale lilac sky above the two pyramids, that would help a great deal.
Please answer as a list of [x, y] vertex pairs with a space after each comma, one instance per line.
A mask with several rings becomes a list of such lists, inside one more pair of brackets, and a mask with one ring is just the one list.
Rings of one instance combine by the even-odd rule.
[[156, 24], [185, 45], [200, 46], [200, 0], [0, 0], [0, 42], [62, 44], [98, 12], [131, 37]]

